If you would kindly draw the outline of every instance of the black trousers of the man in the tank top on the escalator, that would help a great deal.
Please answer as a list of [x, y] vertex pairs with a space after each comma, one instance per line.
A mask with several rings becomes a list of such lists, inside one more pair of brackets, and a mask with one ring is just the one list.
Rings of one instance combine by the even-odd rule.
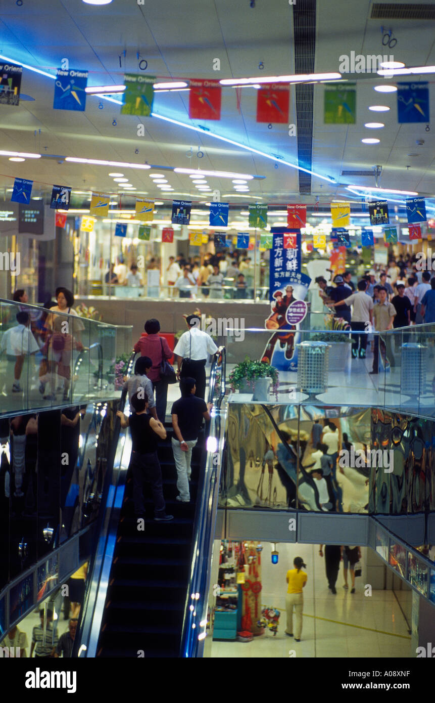
[[164, 517], [166, 503], [163, 497], [162, 469], [157, 458], [157, 451], [148, 454], [132, 451], [130, 467], [133, 472], [133, 500], [136, 515], [145, 512], [143, 484], [148, 483], [151, 486], [155, 517]]

